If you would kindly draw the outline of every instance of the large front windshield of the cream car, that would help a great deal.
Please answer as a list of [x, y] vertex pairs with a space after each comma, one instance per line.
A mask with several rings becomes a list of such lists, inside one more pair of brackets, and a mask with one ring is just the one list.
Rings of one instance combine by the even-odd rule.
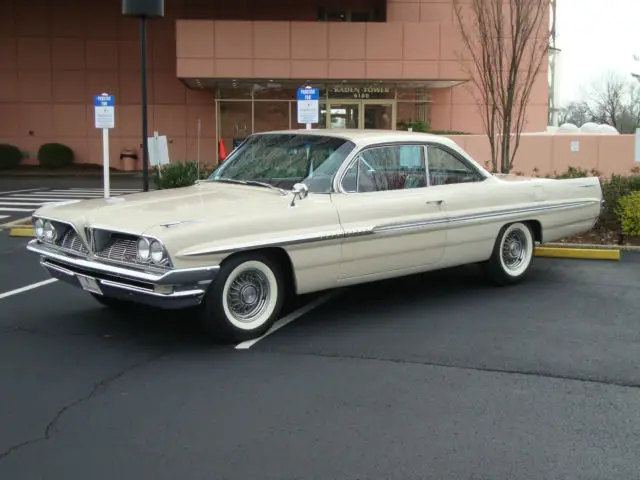
[[335, 173], [355, 144], [344, 138], [297, 133], [250, 136], [209, 176], [210, 181], [262, 182], [291, 190], [305, 183], [329, 193]]

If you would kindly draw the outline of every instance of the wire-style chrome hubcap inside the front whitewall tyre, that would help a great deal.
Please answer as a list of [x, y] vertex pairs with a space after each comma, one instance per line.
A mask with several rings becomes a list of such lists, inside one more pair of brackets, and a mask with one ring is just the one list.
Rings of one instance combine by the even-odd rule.
[[252, 322], [264, 313], [271, 288], [267, 276], [260, 270], [245, 270], [233, 279], [227, 293], [231, 314], [241, 322]]

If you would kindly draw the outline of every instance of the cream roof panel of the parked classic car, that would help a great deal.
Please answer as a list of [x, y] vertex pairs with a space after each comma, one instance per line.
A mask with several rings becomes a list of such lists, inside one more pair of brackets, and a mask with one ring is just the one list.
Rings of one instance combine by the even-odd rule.
[[445, 145], [455, 145], [450, 138], [424, 132], [408, 132], [406, 130], [360, 130], [348, 128], [331, 129], [298, 129], [298, 130], [273, 130], [268, 132], [255, 133], [255, 135], [271, 134], [296, 134], [296, 135], [318, 135], [328, 137], [339, 137], [351, 140], [354, 143], [380, 143], [380, 142], [436, 142]]

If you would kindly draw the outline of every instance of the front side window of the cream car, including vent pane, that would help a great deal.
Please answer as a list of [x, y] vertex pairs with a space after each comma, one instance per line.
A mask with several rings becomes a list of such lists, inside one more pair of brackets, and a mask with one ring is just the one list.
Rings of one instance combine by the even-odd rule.
[[389, 145], [362, 151], [342, 180], [348, 193], [427, 186], [424, 147]]

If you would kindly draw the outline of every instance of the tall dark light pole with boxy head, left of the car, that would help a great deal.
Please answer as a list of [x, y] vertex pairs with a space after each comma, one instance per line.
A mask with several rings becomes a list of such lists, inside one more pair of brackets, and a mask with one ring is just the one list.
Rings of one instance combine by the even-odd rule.
[[147, 127], [147, 19], [164, 17], [164, 0], [122, 0], [122, 14], [140, 19], [140, 77], [142, 88], [142, 178], [149, 191], [149, 142]]

